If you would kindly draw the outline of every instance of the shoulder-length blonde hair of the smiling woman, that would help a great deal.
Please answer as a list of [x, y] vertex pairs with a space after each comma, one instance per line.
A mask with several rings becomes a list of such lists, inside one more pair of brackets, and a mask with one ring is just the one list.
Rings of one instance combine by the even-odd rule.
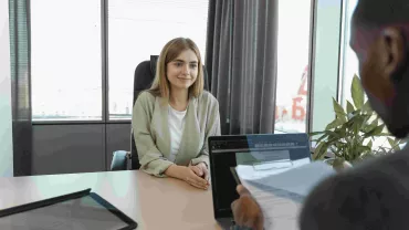
[[156, 64], [154, 83], [148, 92], [155, 96], [169, 98], [170, 83], [166, 76], [167, 64], [178, 58], [178, 55], [185, 50], [193, 51], [198, 58], [198, 75], [195, 83], [189, 87], [189, 96], [197, 97], [203, 92], [203, 67], [200, 52], [196, 43], [187, 38], [172, 39], [164, 46]]

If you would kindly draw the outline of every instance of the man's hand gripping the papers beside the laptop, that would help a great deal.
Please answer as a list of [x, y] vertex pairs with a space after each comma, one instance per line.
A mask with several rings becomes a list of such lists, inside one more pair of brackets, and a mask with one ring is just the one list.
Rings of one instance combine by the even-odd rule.
[[237, 191], [240, 198], [231, 203], [235, 224], [263, 230], [264, 216], [259, 203], [242, 185], [238, 186]]

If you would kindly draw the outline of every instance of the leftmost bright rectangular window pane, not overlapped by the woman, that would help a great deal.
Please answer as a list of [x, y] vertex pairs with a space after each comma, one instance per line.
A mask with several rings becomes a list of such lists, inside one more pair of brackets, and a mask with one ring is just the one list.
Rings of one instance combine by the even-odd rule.
[[31, 3], [33, 121], [102, 119], [101, 0]]

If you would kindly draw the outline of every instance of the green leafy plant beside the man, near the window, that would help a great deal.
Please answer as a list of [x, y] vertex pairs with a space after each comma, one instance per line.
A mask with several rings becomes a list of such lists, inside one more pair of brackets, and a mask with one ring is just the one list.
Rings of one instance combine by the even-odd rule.
[[[385, 132], [385, 124], [370, 108], [369, 102], [364, 102], [364, 90], [357, 75], [353, 79], [350, 91], [353, 103], [347, 101], [344, 109], [333, 98], [335, 119], [326, 126], [325, 130], [310, 134], [311, 137], [318, 136], [313, 139], [316, 142], [313, 159], [324, 159], [337, 170], [352, 167], [367, 157], [400, 150], [400, 146], [406, 144], [406, 140], [395, 139]], [[374, 142], [377, 137], [385, 137], [386, 142], [375, 146]], [[327, 158], [328, 153], [333, 157]]]

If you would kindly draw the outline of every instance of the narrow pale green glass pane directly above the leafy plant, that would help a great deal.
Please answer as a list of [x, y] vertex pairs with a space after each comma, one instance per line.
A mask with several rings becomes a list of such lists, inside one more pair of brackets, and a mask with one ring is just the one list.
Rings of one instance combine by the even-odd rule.
[[323, 130], [335, 118], [333, 98], [338, 98], [342, 12], [343, 0], [315, 2], [310, 132]]

